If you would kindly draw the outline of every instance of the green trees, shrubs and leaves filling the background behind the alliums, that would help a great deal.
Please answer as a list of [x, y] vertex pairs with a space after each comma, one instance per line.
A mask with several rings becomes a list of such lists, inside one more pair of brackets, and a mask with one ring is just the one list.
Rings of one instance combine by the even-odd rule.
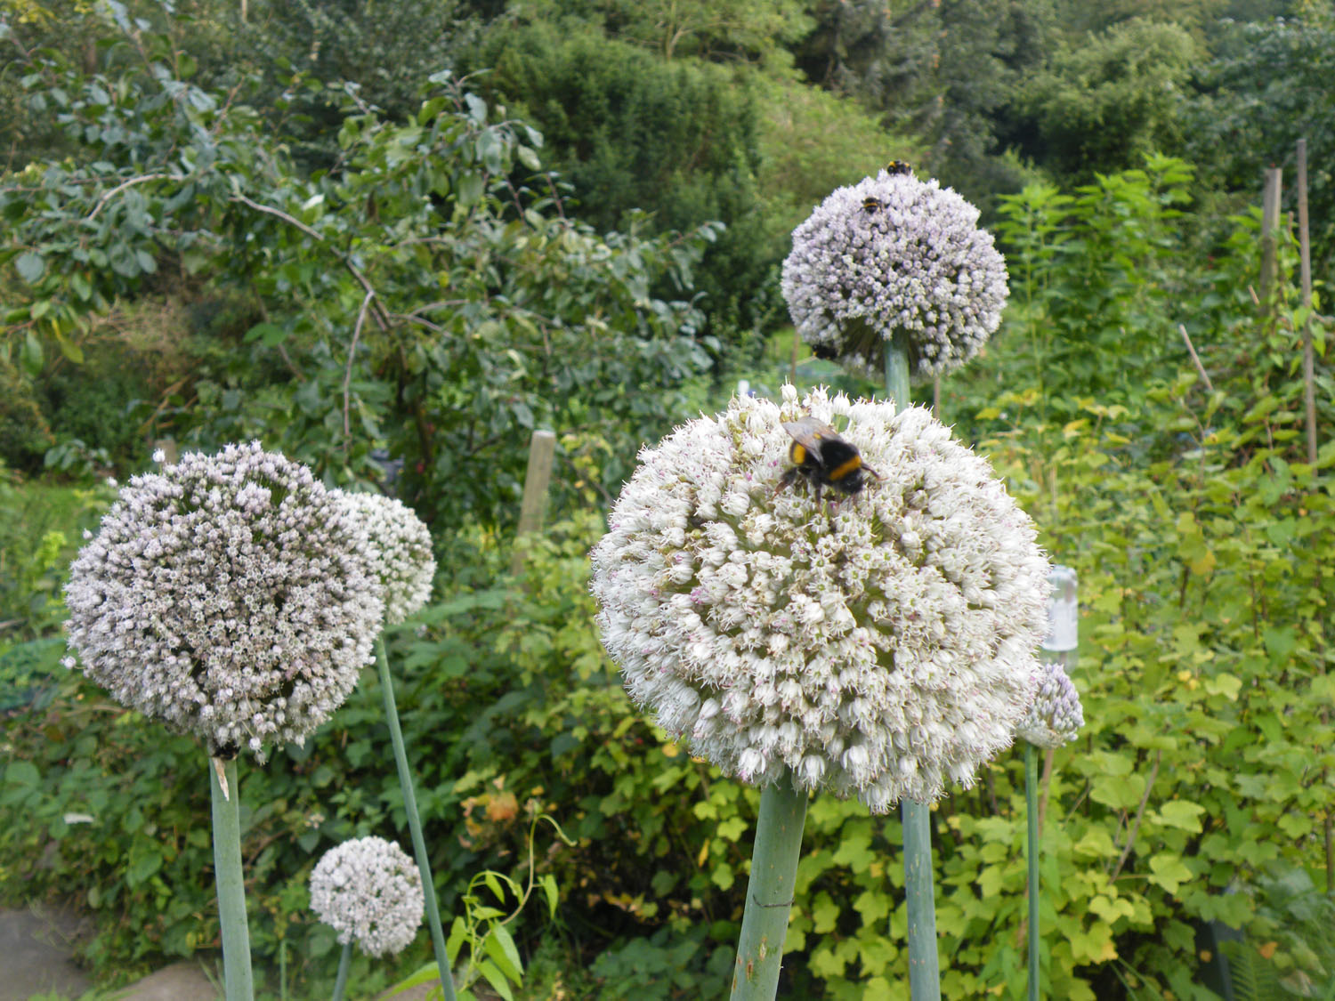
[[[1240, 996], [1322, 996], [1332, 32], [1306, 0], [0, 0], [0, 894], [89, 912], [108, 981], [216, 950], [199, 749], [59, 666], [60, 586], [108, 476], [258, 438], [433, 529], [437, 601], [391, 649], [443, 910], [526, 869], [533, 803], [578, 844], [539, 845], [562, 906], [518, 930], [526, 996], [718, 996], [757, 794], [630, 706], [586, 554], [641, 444], [738, 379], [877, 390], [794, 350], [777, 268], [825, 194], [898, 157], [976, 200], [1011, 270], [941, 416], [1081, 579], [1049, 993], [1208, 998], [1223, 954]], [[1263, 315], [1260, 171], [1290, 182], [1300, 136], [1318, 308], [1286, 226]], [[513, 575], [535, 427], [549, 529]], [[275, 997], [280, 968], [291, 996], [332, 981], [314, 860], [406, 838], [374, 689], [242, 778]], [[1019, 757], [933, 822], [944, 994], [1021, 997]], [[902, 994], [897, 845], [813, 802], [788, 996]]]

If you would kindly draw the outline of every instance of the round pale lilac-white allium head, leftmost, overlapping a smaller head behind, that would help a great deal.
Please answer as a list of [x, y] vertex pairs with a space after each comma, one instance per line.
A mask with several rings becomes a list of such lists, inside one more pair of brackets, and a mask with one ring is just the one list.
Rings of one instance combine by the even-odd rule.
[[69, 645], [121, 705], [211, 754], [302, 743], [371, 661], [364, 533], [258, 442], [135, 476], [71, 566]]

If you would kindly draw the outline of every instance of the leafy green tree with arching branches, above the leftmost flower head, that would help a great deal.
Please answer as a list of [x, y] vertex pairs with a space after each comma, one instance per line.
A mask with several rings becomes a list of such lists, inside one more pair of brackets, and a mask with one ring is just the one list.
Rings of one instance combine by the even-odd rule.
[[235, 95], [151, 52], [117, 76], [48, 61], [31, 79], [87, 157], [0, 188], [20, 290], [7, 342], [33, 367], [52, 346], [79, 360], [91, 316], [166, 275], [248, 316], [243, 343], [215, 342], [148, 407], [146, 436], [262, 436], [340, 480], [378, 478], [383, 447], [435, 510], [493, 519], [539, 422], [574, 452], [610, 446], [615, 483], [663, 426], [662, 394], [708, 364], [689, 283], [716, 228], [571, 222], [533, 174], [541, 136], [450, 77], [398, 125], [347, 92], [344, 165], [311, 179]]

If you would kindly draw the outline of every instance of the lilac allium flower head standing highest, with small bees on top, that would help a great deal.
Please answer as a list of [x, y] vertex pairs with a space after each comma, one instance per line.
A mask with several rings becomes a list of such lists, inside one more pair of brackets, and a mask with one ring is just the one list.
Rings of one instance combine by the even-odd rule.
[[802, 339], [880, 375], [905, 334], [910, 374], [964, 364], [1001, 322], [1005, 260], [979, 210], [912, 174], [864, 178], [829, 195], [793, 231], [782, 290]]

